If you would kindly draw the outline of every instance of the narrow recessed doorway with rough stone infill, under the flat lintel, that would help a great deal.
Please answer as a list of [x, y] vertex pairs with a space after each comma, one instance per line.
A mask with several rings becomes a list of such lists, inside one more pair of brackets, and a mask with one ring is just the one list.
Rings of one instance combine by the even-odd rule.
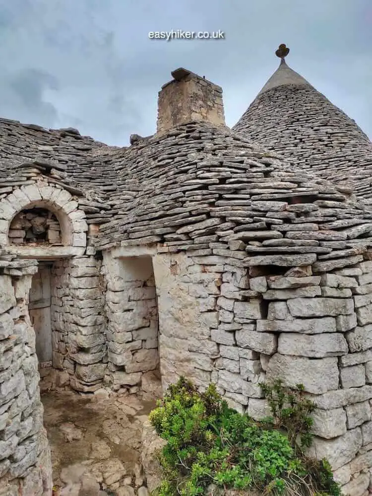
[[143, 372], [158, 369], [158, 316], [151, 257], [104, 254], [108, 374], [114, 390], [136, 391]]

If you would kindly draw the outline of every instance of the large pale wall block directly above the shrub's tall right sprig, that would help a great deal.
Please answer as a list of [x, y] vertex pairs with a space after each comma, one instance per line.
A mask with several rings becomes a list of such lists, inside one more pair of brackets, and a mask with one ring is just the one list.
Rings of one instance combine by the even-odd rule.
[[310, 358], [274, 354], [269, 361], [267, 379], [282, 378], [288, 386], [304, 384], [305, 391], [321, 394], [338, 388], [337, 358]]

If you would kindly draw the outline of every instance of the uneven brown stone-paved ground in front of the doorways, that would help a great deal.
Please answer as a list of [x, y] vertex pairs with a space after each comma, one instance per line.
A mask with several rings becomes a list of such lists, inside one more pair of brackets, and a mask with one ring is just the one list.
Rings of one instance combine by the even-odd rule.
[[54, 496], [147, 496], [140, 440], [142, 422], [155, 405], [152, 394], [58, 388], [42, 401]]

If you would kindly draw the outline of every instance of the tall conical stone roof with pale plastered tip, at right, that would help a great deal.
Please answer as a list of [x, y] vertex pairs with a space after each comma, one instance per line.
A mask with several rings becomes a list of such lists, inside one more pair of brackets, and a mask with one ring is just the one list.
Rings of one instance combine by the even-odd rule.
[[233, 131], [372, 202], [368, 136], [284, 58]]

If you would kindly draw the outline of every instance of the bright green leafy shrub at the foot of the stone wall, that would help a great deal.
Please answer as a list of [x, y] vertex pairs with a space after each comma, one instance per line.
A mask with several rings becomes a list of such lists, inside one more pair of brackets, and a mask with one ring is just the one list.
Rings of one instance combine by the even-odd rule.
[[272, 411], [263, 422], [229, 408], [214, 384], [199, 393], [181, 378], [168, 388], [150, 413], [167, 440], [159, 496], [203, 495], [210, 484], [273, 496], [340, 495], [329, 464], [303, 454], [315, 408], [303, 387], [290, 390], [280, 381], [261, 387]]

